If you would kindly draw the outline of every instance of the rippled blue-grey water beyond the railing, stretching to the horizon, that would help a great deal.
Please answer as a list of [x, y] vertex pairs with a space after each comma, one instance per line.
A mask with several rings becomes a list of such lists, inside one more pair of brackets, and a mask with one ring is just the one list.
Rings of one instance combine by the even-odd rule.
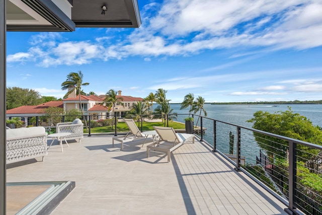
[[[313, 125], [318, 125], [322, 127], [322, 105], [211, 105], [205, 104], [204, 108], [207, 111], [208, 118], [213, 118], [219, 121], [224, 121], [244, 127], [252, 128], [252, 123], [247, 122], [247, 120], [253, 118], [253, 114], [256, 111], [267, 111], [274, 113], [277, 111], [286, 111], [288, 106], [291, 107], [294, 113], [299, 113], [300, 115], [308, 118]], [[173, 112], [178, 114], [189, 114], [189, 108], [180, 110], [180, 104], [171, 104], [171, 108], [174, 109]], [[203, 114], [202, 114], [203, 115]], [[184, 122], [184, 118], [187, 115], [178, 115], [177, 121]], [[195, 117], [195, 123], [198, 117]], [[198, 122], [200, 125], [200, 121]], [[209, 143], [213, 144], [213, 120], [203, 119], [203, 127], [207, 130], [204, 134], [204, 139]], [[234, 136], [236, 136], [236, 127], [230, 126], [223, 123], [217, 123], [217, 136], [216, 145], [223, 153], [229, 152], [229, 132], [232, 131]], [[234, 140], [236, 142], [236, 139]], [[234, 146], [235, 148], [235, 146]], [[256, 162], [256, 156], [259, 156], [259, 147], [255, 141], [253, 133], [242, 129], [241, 130], [241, 155], [246, 157], [246, 162], [254, 164]], [[234, 149], [235, 152], [235, 149]]]

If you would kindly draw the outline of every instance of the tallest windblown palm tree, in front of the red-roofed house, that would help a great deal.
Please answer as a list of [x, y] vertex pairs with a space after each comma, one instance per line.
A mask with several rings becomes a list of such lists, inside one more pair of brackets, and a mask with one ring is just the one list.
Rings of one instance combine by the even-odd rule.
[[[78, 71], [78, 73], [69, 73], [67, 75], [67, 79], [66, 81], [64, 81], [61, 84], [61, 90], [67, 90], [69, 87], [73, 86], [75, 87], [76, 90], [76, 95], [79, 97], [79, 106], [81, 106], [81, 111], [82, 114], [84, 116], [84, 108], [82, 106], [82, 100], [81, 100], [81, 95], [82, 95], [82, 86], [88, 86], [90, 83], [83, 83], [83, 73], [82, 71]], [[70, 93], [72, 93], [72, 91], [69, 91], [66, 93], [66, 95], [68, 96]], [[84, 93], [84, 92], [83, 92]], [[86, 118], [85, 118], [85, 126], [87, 129], [87, 122], [86, 122]]]

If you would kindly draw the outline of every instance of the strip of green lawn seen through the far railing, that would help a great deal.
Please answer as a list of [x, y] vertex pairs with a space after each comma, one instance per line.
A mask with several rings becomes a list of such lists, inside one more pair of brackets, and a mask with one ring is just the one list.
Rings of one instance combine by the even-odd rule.
[[[137, 122], [135, 122], [136, 126], [138, 126]], [[167, 124], [166, 124], [167, 125]], [[163, 122], [143, 122], [143, 131], [147, 130], [153, 130], [153, 126], [164, 126]], [[179, 123], [179, 122], [170, 122], [169, 121], [169, 127], [173, 127], [174, 129], [185, 129], [185, 124]], [[141, 128], [141, 124], [139, 129]], [[114, 132], [115, 128], [112, 126], [98, 126], [91, 128], [91, 133], [103, 133], [103, 132]], [[117, 123], [117, 131], [118, 132], [125, 132], [129, 131], [127, 125], [125, 122], [118, 122]], [[84, 129], [85, 133], [88, 133], [86, 128]]]

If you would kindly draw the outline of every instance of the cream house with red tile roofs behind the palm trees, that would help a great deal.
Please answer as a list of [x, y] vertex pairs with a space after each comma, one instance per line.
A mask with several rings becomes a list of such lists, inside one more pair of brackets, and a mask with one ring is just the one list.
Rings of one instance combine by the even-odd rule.
[[[79, 103], [79, 97], [76, 96], [75, 88], [68, 88], [68, 91], [72, 91], [66, 99], [62, 101], [51, 101], [40, 105], [29, 105], [21, 106], [7, 110], [7, 118], [9, 117], [21, 117], [25, 121], [26, 125], [31, 125], [30, 119], [34, 116], [44, 116], [46, 115], [45, 109], [49, 107], [61, 107], [64, 111], [69, 111], [71, 109], [81, 110], [81, 104]], [[100, 96], [83, 96], [81, 95], [82, 107], [84, 110], [84, 115], [90, 115], [91, 120], [107, 119], [112, 117], [112, 110], [105, 106], [106, 95]], [[138, 101], [143, 101], [142, 98], [132, 97], [132, 96], [122, 96], [122, 91], [118, 91], [118, 98], [123, 98], [122, 103], [124, 107], [117, 103], [114, 107], [115, 115], [118, 117], [124, 117], [128, 111], [131, 110], [133, 103]], [[27, 122], [27, 123], [26, 123]]]

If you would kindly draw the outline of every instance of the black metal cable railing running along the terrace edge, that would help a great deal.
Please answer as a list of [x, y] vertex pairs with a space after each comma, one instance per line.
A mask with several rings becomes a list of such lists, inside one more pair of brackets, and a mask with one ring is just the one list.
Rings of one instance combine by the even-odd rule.
[[[176, 115], [176, 121], [184, 122], [188, 114]], [[150, 116], [142, 115], [139, 119], [142, 122]], [[86, 117], [88, 135], [94, 135], [92, 116]], [[117, 117], [112, 116], [114, 124]], [[192, 117], [195, 123], [198, 121], [195, 135], [200, 141], [283, 202], [289, 214], [322, 214], [322, 146], [208, 117]], [[155, 118], [163, 118], [169, 126], [170, 116], [153, 115]], [[65, 120], [63, 116], [61, 119]], [[142, 127], [140, 123], [141, 131]], [[120, 133], [114, 126], [114, 132], [105, 134]]]

